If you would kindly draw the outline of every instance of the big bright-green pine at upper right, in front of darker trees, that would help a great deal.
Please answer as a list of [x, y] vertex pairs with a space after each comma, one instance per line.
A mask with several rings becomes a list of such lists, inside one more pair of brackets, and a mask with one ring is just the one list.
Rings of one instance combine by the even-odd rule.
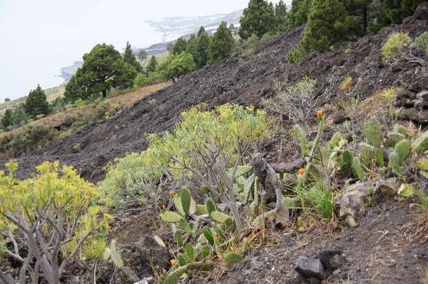
[[315, 50], [325, 51], [358, 31], [360, 26], [357, 19], [354, 16], [347, 16], [345, 6], [340, 0], [315, 0], [299, 49], [304, 54]]

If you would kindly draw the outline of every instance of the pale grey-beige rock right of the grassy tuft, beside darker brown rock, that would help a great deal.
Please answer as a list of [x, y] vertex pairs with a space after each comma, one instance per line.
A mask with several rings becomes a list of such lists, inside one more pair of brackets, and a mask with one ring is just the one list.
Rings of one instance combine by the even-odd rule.
[[365, 208], [364, 198], [367, 196], [368, 190], [366, 183], [355, 183], [345, 188], [345, 193], [336, 201], [336, 204], [340, 206], [340, 218], [347, 220], [352, 228], [358, 225], [355, 218], [360, 210]]

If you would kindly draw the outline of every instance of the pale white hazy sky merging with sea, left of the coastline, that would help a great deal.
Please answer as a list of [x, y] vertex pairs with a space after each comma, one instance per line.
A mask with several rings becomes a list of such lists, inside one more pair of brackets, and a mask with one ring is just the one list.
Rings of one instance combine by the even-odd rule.
[[27, 96], [38, 83], [58, 86], [61, 67], [96, 44], [156, 44], [161, 34], [146, 20], [230, 13], [248, 1], [0, 0], [0, 102]]

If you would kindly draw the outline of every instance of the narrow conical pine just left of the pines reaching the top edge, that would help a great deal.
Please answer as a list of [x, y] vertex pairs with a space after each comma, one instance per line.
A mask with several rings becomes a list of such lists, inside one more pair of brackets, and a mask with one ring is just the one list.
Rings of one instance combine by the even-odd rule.
[[222, 21], [211, 40], [211, 62], [215, 63], [229, 57], [234, 42], [235, 39], [228, 29], [228, 24]]

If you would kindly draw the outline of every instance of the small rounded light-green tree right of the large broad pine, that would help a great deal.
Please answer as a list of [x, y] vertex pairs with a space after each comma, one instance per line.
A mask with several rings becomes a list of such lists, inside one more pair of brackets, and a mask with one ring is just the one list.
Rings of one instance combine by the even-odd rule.
[[170, 54], [165, 61], [158, 65], [158, 70], [163, 73], [165, 78], [169, 78], [175, 83], [183, 76], [196, 69], [193, 56], [183, 51], [178, 55]]

